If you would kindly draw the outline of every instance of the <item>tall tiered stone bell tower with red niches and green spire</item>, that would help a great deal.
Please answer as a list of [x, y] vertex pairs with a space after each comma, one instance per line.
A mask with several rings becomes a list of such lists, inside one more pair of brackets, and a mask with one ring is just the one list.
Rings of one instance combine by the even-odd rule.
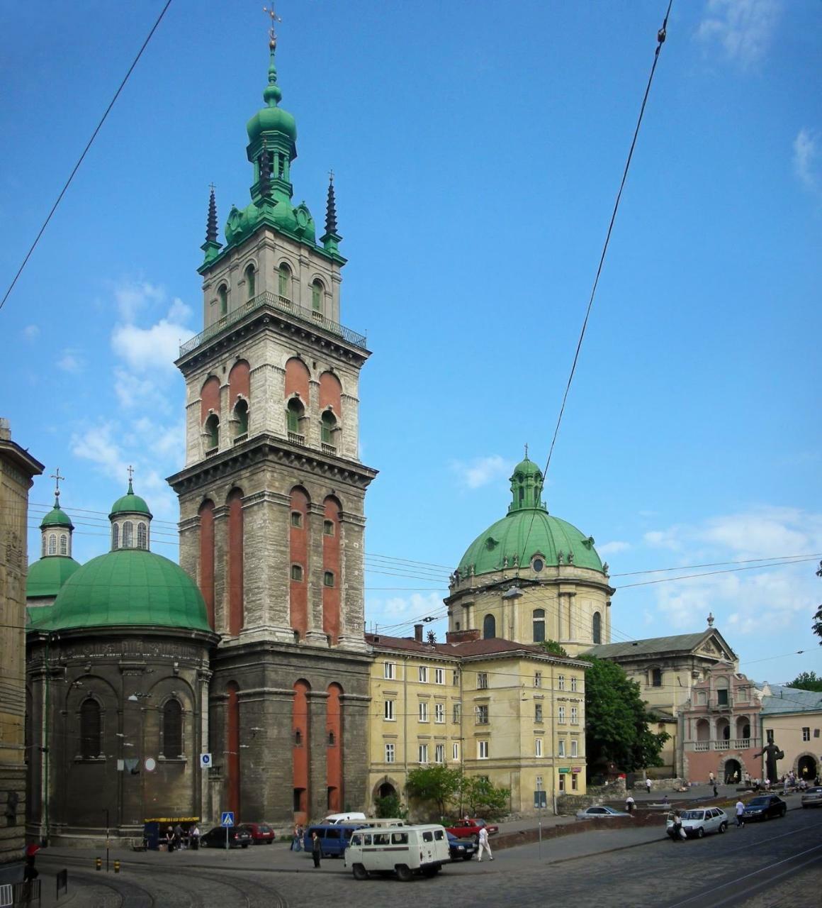
[[[316, 239], [294, 205], [294, 117], [279, 106], [276, 38], [265, 106], [248, 123], [250, 204], [218, 241], [212, 190], [203, 331], [186, 382], [181, 566], [211, 626], [212, 810], [306, 821], [361, 804], [367, 679], [363, 517], [377, 475], [358, 459], [366, 339], [340, 323], [333, 182]], [[355, 808], [356, 809], [356, 808]]]

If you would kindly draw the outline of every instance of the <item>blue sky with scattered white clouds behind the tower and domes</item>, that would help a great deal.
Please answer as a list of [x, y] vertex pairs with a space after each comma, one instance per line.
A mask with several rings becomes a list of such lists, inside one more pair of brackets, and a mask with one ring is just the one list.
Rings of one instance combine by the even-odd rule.
[[[3, 291], [161, 6], [0, 5]], [[0, 311], [0, 415], [48, 467], [30, 523], [59, 465], [81, 561], [106, 548], [128, 464], [155, 550], [177, 555], [171, 360], [202, 327], [208, 184], [220, 224], [248, 200], [260, 6], [174, 0]], [[525, 442], [544, 463], [664, 11], [278, 7], [295, 201], [321, 222], [334, 169], [342, 321], [374, 352], [369, 624], [442, 615]], [[820, 15], [813, 0], [674, 3], [544, 495], [611, 564], [614, 640], [700, 630], [710, 610], [742, 669], [772, 682], [822, 670], [816, 561], [619, 575], [822, 552]]]

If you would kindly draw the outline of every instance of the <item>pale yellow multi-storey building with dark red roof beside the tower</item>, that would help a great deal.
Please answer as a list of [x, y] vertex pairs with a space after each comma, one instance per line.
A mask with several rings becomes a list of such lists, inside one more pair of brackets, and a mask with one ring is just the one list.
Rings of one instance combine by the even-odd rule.
[[369, 634], [373, 647], [367, 809], [405, 801], [419, 765], [462, 768], [511, 791], [512, 814], [585, 793], [585, 666], [475, 631], [447, 641]]

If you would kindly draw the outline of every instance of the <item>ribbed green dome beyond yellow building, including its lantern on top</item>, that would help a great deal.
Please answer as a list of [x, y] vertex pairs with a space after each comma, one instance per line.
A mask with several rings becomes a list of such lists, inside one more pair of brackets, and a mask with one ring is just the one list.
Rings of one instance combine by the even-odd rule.
[[511, 477], [513, 501], [508, 514], [481, 533], [465, 550], [458, 571], [466, 576], [529, 565], [542, 558], [546, 565], [572, 564], [602, 571], [593, 538], [565, 520], [553, 517], [540, 499], [543, 474], [527, 457]]

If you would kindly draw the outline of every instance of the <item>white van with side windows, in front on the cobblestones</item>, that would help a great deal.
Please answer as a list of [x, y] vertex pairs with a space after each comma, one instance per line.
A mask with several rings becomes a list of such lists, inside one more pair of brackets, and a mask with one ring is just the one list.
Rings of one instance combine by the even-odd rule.
[[451, 856], [445, 829], [434, 824], [357, 829], [345, 854], [355, 880], [396, 873], [404, 883], [415, 873], [435, 876]]

